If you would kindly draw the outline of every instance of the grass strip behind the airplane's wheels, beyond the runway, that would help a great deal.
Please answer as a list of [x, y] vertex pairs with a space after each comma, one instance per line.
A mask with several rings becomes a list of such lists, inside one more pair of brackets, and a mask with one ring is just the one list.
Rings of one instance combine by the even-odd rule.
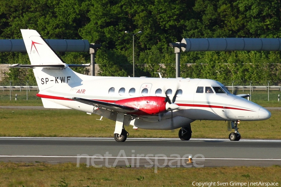
[[[271, 110], [265, 121], [241, 122], [243, 138], [281, 139], [281, 110]], [[3, 137], [113, 137], [115, 122], [95, 114], [71, 109], [0, 109], [0, 136]], [[227, 122], [195, 121], [191, 123], [193, 138], [228, 138]], [[178, 138], [178, 130], [134, 130], [126, 127], [129, 137]], [[212, 133], [210, 133], [212, 132]]]

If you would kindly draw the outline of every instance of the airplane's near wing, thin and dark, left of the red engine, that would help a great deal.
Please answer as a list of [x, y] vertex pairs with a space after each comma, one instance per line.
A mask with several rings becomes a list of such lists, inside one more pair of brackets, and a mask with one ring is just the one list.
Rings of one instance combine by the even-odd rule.
[[115, 104], [115, 103], [108, 103], [108, 102], [103, 102], [103, 101], [97, 101], [97, 100], [91, 100], [91, 99], [85, 99], [85, 98], [77, 98], [77, 97], [72, 98], [72, 100], [78, 101], [80, 103], [92, 105], [97, 108], [101, 107], [101, 108], [106, 108], [109, 110], [113, 110], [116, 112], [122, 112], [122, 113], [128, 113], [128, 112], [132, 113], [132, 112], [138, 111], [137, 108], [128, 107], [128, 106]]

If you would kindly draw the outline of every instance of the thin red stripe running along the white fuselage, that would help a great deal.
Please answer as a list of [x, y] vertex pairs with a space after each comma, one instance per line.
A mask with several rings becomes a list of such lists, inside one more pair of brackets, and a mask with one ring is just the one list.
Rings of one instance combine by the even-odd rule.
[[[40, 98], [47, 98], [47, 99], [58, 99], [58, 100], [67, 100], [67, 101], [72, 101], [72, 99], [69, 98], [64, 98], [64, 97], [57, 97], [57, 96], [51, 96], [51, 95], [43, 95], [37, 93], [36, 96]], [[97, 99], [93, 99], [97, 100]], [[97, 101], [103, 101], [103, 102], [108, 102], [108, 103], [114, 103], [115, 100], [97, 100]], [[217, 105], [207, 105], [207, 104], [184, 104], [184, 103], [176, 103], [180, 107], [202, 107], [202, 108], [223, 108], [223, 109], [232, 109], [232, 110], [244, 110], [244, 111], [251, 111], [252, 110], [247, 110], [243, 108], [233, 108], [233, 107], [224, 107], [224, 106], [217, 106]]]

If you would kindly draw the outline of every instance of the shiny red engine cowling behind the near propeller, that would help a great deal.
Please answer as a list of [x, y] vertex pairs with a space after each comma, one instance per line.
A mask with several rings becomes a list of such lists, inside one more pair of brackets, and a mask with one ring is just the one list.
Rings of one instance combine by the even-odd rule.
[[139, 109], [133, 113], [135, 115], [155, 115], [167, 112], [165, 99], [165, 97], [147, 96], [121, 99], [114, 103]]

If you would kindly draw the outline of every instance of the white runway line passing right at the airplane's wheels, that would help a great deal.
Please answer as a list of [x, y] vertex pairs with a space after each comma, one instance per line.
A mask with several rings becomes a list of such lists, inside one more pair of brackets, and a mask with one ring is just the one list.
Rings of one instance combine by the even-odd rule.
[[[115, 141], [114, 138], [103, 137], [0, 137], [0, 140], [81, 140], [81, 141]], [[179, 138], [127, 138], [127, 140], [139, 141], [181, 141]], [[230, 141], [229, 139], [210, 139], [210, 138], [191, 138], [190, 141]], [[281, 142], [281, 140], [252, 140], [241, 139], [239, 141], [246, 142]]]

